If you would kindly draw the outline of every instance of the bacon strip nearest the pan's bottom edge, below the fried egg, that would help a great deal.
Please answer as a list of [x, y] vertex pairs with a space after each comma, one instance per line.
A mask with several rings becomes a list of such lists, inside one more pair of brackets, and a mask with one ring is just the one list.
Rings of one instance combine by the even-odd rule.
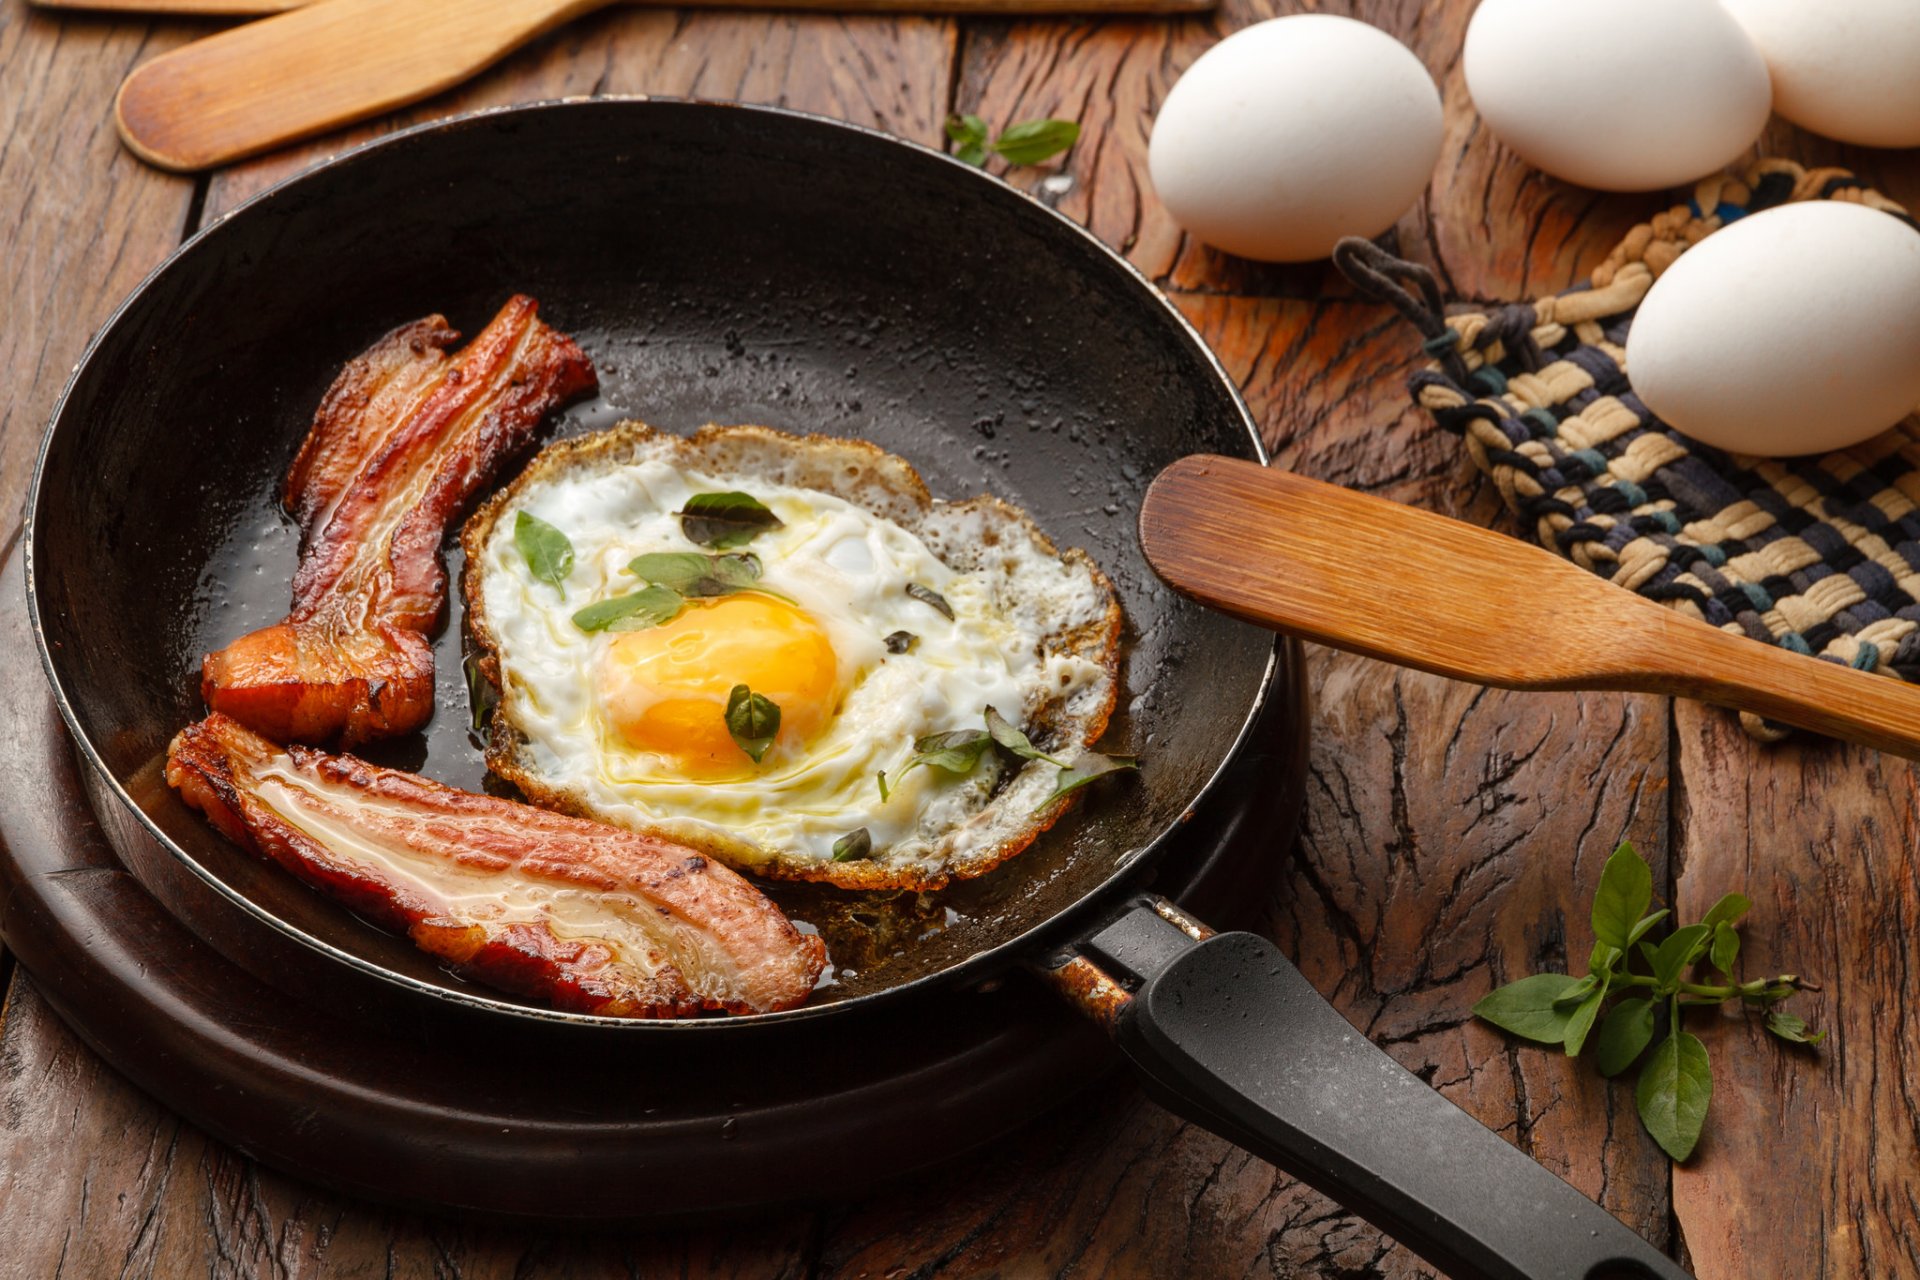
[[559, 1009], [791, 1009], [826, 965], [818, 936], [691, 848], [280, 748], [219, 712], [173, 739], [167, 783], [342, 906]]

